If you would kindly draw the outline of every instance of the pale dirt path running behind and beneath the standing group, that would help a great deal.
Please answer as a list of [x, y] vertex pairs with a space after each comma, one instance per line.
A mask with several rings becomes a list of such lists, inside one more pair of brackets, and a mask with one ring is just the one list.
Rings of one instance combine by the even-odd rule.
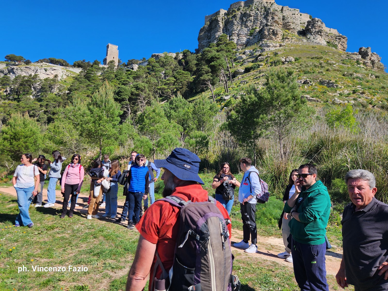
[[[0, 192], [7, 193], [13, 196], [16, 196], [16, 191], [14, 187], [0, 187]], [[87, 209], [82, 209], [83, 206], [85, 206], [88, 202], [88, 194], [86, 193], [80, 193], [78, 196], [77, 203], [80, 205], [76, 207], [76, 210], [80, 213], [83, 213], [86, 215]], [[61, 209], [62, 208], [62, 201], [63, 197], [61, 194], [61, 191], [56, 191], [56, 201], [55, 201], [55, 208]], [[80, 203], [80, 202], [83, 203]], [[47, 189], [43, 189], [43, 202], [47, 202]], [[104, 214], [105, 208], [99, 209], [99, 215], [101, 216]], [[232, 230], [232, 243], [233, 242], [239, 242], [242, 240], [242, 231], [233, 229]], [[262, 258], [265, 260], [270, 260], [273, 262], [277, 262], [281, 265], [284, 265], [286, 267], [292, 268], [292, 263], [287, 262], [284, 259], [278, 258], [277, 254], [284, 252], [284, 245], [283, 240], [281, 238], [277, 237], [264, 237], [264, 236], [258, 236], [258, 253], [255, 254], [247, 254], [244, 253], [243, 249], [238, 248], [232, 248], [233, 252], [239, 253], [239, 255], [245, 255], [247, 258], [252, 258], [252, 256], [256, 256], [257, 258]], [[326, 251], [326, 272], [330, 275], [336, 275], [338, 272], [338, 269], [340, 268], [342, 258], [342, 249], [336, 249], [334, 251]]]

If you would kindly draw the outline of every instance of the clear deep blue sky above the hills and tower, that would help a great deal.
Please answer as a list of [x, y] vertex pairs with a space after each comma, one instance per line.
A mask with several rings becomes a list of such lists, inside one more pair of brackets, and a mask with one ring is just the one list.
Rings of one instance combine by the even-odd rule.
[[[204, 16], [234, 0], [19, 0], [1, 4], [2, 45], [6, 54], [23, 55], [36, 61], [44, 57], [102, 62], [107, 43], [119, 47], [119, 57], [147, 59], [152, 53], [197, 48]], [[360, 0], [276, 0], [318, 17], [327, 27], [348, 37], [348, 50], [372, 47], [388, 65], [388, 3]], [[371, 3], [371, 5], [367, 5]], [[5, 13], [4, 13], [5, 12]]]

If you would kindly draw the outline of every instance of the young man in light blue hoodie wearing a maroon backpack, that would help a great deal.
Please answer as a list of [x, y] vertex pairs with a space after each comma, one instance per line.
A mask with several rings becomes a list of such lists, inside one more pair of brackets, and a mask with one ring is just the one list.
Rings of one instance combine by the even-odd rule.
[[[243, 239], [241, 242], [233, 244], [236, 248], [244, 248], [246, 253], [256, 253], [257, 251], [256, 196], [262, 192], [259, 171], [251, 164], [252, 161], [249, 158], [240, 160], [240, 168], [244, 172], [239, 188]], [[248, 242], [249, 238], [252, 242], [251, 245]]]

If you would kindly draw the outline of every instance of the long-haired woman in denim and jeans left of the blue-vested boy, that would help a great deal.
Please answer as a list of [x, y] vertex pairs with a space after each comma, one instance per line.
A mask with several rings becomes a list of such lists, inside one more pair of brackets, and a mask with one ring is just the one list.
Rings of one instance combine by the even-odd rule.
[[118, 178], [121, 175], [120, 162], [116, 159], [111, 164], [109, 177], [106, 179], [111, 182], [111, 187], [106, 192], [105, 214], [102, 217], [116, 218], [117, 215], [117, 192], [119, 190]]

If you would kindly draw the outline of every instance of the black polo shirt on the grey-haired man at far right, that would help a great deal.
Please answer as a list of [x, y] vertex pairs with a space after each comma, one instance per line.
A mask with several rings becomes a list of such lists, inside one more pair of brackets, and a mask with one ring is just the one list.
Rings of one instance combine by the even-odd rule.
[[388, 205], [373, 197], [362, 210], [345, 206], [342, 216], [346, 282], [358, 288], [388, 283], [377, 269], [388, 261]]

